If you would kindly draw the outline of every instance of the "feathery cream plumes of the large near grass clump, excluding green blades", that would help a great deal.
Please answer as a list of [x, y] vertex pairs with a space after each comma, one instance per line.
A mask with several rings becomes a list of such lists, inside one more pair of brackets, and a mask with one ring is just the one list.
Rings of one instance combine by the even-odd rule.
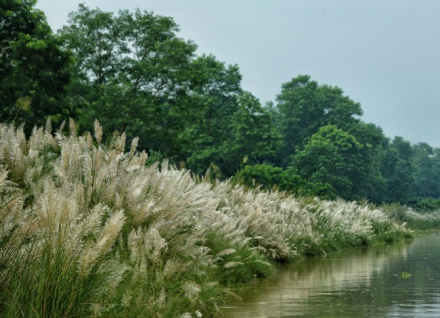
[[[99, 123], [95, 126], [100, 139]], [[0, 129], [2, 158], [7, 158], [2, 162], [13, 169], [15, 178], [26, 180], [31, 191], [28, 195], [33, 197], [33, 203], [24, 210], [24, 197], [15, 198], [18, 200], [15, 213], [21, 214], [21, 222], [24, 215], [34, 216], [29, 218], [28, 224], [20, 226], [33, 229], [28, 237], [35, 243], [27, 244], [31, 249], [27, 251], [33, 254], [35, 262], [49, 244], [55, 249], [64, 249], [69, 258], [67, 263], [77, 264], [81, 276], [103, 268], [107, 275], [114, 272], [113, 276], [120, 278], [127, 268], [134, 270], [139, 264], [118, 256], [124, 241], [129, 243], [131, 239], [128, 238], [130, 231], [138, 231], [144, 233], [143, 253], [149, 273], [164, 281], [156, 279], [158, 284], [165, 286], [166, 280], [175, 281], [170, 272], [175, 275], [186, 271], [188, 275], [188, 271], [200, 272], [200, 266], [214, 263], [213, 257], [208, 256], [209, 249], [196, 246], [203, 236], [199, 215], [209, 213], [214, 207], [205, 202], [211, 197], [210, 186], [196, 184], [188, 171], [168, 169], [166, 162], [161, 171], [157, 166], [146, 167], [145, 152], [135, 154], [137, 140], [132, 143], [130, 152], [124, 153], [124, 135], [116, 137], [110, 147], [102, 146], [101, 140], [95, 146], [89, 133], [76, 137], [73, 121], [69, 136], [58, 132], [54, 139], [52, 135], [47, 136], [50, 128], [38, 128], [34, 129], [29, 143], [23, 138], [22, 128], [15, 130], [2, 125]], [[47, 171], [42, 175], [43, 169], [35, 170], [34, 166], [41, 165], [45, 159], [49, 148], [46, 144], [53, 149], [59, 147], [61, 153], [46, 162]], [[22, 177], [25, 172], [29, 175], [27, 178]], [[5, 180], [6, 175], [2, 173], [2, 185], [10, 182]], [[17, 188], [14, 191], [20, 192]], [[7, 221], [11, 215], [13, 213], [8, 212], [2, 219], [5, 232], [7, 227], [17, 226]], [[132, 248], [126, 252], [135, 254], [136, 251]], [[106, 255], [113, 255], [113, 260]], [[171, 259], [169, 255], [174, 255], [172, 262], [166, 261]], [[193, 265], [186, 265], [189, 263]], [[167, 271], [160, 274], [166, 264]], [[112, 280], [113, 287], [114, 282], [118, 280]], [[182, 290], [184, 286], [182, 282]], [[97, 294], [103, 294], [102, 290], [110, 290], [110, 287], [102, 286]], [[164, 293], [157, 301], [152, 295], [150, 302], [163, 303], [167, 299]], [[101, 311], [106, 309], [96, 303], [94, 307]]]

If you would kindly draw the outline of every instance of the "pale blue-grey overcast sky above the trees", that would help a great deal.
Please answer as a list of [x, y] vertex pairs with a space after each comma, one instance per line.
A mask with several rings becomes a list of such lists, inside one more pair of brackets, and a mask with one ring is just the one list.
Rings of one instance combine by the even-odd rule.
[[237, 64], [262, 104], [309, 74], [361, 103], [385, 135], [440, 147], [438, 0], [39, 0], [56, 31], [79, 3], [169, 16], [179, 36]]

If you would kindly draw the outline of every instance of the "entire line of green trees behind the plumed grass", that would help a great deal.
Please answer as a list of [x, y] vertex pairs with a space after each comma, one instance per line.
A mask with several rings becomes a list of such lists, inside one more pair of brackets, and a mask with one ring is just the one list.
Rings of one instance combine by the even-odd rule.
[[0, 9], [0, 120], [50, 116], [139, 136], [150, 158], [249, 187], [440, 206], [440, 149], [387, 138], [339, 87], [299, 75], [261, 105], [237, 65], [197, 56], [172, 18], [80, 5], [57, 34], [34, 0]]

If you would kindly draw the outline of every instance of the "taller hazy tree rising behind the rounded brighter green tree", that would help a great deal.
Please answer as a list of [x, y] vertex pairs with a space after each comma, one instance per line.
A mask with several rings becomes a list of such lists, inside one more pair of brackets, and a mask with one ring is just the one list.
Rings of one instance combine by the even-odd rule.
[[281, 152], [284, 164], [322, 126], [331, 124], [348, 130], [359, 122], [355, 116], [362, 115], [360, 104], [343, 96], [342, 89], [318, 85], [309, 75], [298, 75], [282, 84], [277, 95], [277, 111], [284, 135]]

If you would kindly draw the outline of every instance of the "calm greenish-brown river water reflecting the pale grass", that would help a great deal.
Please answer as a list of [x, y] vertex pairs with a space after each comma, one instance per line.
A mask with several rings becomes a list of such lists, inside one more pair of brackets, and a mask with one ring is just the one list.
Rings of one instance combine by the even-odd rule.
[[440, 317], [440, 232], [305, 259], [246, 285], [222, 316]]

